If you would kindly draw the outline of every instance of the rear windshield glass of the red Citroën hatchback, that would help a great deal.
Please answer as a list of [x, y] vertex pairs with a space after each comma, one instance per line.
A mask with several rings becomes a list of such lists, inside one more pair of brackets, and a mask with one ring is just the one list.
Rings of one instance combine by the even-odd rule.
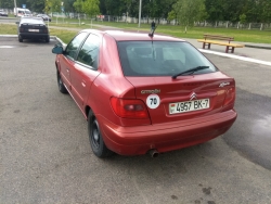
[[197, 66], [208, 66], [208, 68], [193, 74], [217, 71], [188, 42], [119, 41], [118, 52], [125, 76], [173, 76]]

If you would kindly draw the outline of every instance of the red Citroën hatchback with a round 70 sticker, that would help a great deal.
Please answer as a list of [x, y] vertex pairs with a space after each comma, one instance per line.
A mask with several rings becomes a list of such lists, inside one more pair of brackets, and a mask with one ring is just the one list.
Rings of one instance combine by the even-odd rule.
[[59, 89], [87, 118], [98, 157], [155, 157], [221, 136], [236, 119], [234, 79], [184, 40], [86, 29], [52, 52]]

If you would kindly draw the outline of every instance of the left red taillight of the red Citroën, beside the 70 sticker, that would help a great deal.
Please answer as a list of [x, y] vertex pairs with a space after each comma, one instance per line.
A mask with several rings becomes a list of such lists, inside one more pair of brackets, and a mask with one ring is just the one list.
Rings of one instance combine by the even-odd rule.
[[145, 119], [149, 113], [145, 104], [137, 99], [111, 98], [111, 105], [117, 116], [124, 118]]

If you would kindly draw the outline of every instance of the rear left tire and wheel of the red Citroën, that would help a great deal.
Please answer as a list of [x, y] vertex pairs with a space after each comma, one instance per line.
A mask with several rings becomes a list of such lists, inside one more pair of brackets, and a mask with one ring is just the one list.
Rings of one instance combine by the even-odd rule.
[[113, 155], [113, 152], [107, 149], [103, 141], [99, 123], [91, 110], [89, 111], [88, 115], [88, 132], [90, 145], [95, 156], [105, 158]]

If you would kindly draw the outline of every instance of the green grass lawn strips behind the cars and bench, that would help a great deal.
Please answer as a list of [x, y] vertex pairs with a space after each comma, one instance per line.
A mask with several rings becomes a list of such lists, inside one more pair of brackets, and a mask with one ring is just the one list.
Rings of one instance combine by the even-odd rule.
[[[90, 20], [85, 21], [81, 20], [85, 25], [79, 25], [78, 20], [68, 20], [68, 18], [53, 18], [53, 22], [50, 23], [50, 26], [59, 26], [59, 27], [67, 27], [67, 28], [78, 28], [86, 29], [90, 28]], [[140, 31], [150, 31], [149, 24], [141, 24], [141, 27], [138, 27], [138, 24], [131, 23], [117, 23], [117, 22], [92, 22], [92, 28], [98, 28], [95, 25], [104, 25], [104, 26], [112, 26], [121, 28], [125, 30], [140, 30]], [[65, 29], [54, 29], [50, 28], [50, 35], [57, 36], [64, 42], [68, 42], [78, 30], [65, 30]], [[0, 35], [3, 34], [16, 34], [16, 25], [10, 24], [0, 24]], [[188, 28], [188, 33], [184, 33], [184, 27], [178, 25], [158, 25], [156, 33], [165, 34], [178, 38], [194, 38], [199, 39], [203, 38], [204, 34], [211, 34], [211, 35], [222, 35], [222, 36], [230, 36], [234, 37], [235, 41], [243, 41], [243, 42], [258, 42], [258, 43], [271, 43], [271, 31], [270, 30], [256, 30], [256, 29], [234, 29], [234, 28], [215, 28], [215, 27], [191, 27]]]

